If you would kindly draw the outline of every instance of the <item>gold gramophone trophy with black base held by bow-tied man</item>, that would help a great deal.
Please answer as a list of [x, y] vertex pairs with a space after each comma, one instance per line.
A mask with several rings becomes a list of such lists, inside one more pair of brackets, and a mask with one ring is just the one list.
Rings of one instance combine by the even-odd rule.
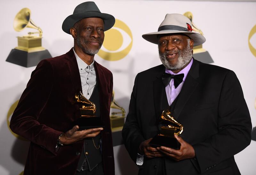
[[183, 126], [173, 118], [169, 109], [162, 112], [160, 123], [163, 126], [161, 126], [160, 133], [149, 142], [151, 147], [164, 146], [180, 149], [180, 142], [174, 137], [174, 134], [180, 135], [183, 131]]

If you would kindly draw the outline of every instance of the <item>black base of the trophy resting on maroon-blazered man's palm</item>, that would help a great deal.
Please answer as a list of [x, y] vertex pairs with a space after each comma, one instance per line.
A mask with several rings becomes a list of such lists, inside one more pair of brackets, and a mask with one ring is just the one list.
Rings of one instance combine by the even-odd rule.
[[103, 128], [104, 125], [100, 120], [100, 117], [80, 117], [76, 120], [75, 125], [79, 126], [78, 131], [91, 129], [91, 128]]

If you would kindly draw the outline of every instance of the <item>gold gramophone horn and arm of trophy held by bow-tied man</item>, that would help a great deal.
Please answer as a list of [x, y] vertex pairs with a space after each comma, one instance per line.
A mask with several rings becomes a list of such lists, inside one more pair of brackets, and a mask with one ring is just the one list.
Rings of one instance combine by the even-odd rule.
[[163, 111], [161, 117], [160, 117], [160, 120], [164, 120], [164, 121], [167, 121], [168, 123], [171, 123], [169, 124], [168, 126], [162, 126], [163, 128], [170, 128], [170, 129], [174, 129], [175, 132], [174, 134], [176, 135], [180, 135], [183, 131], [183, 126], [178, 123], [174, 118], [173, 116], [171, 116], [171, 112], [166, 109]]

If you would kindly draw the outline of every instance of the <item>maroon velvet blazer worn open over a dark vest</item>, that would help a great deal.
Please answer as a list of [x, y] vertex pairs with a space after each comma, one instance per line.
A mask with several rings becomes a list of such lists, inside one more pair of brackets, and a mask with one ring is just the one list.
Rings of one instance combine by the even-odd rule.
[[[101, 131], [105, 175], [114, 175], [114, 155], [109, 110], [113, 76], [94, 62], [100, 92], [100, 117], [105, 125]], [[79, 105], [71, 101], [82, 91], [79, 69], [73, 49], [64, 55], [42, 60], [32, 72], [26, 89], [15, 109], [10, 128], [31, 141], [24, 175], [75, 174], [84, 141], [60, 147], [57, 139], [73, 127], [79, 117]]]

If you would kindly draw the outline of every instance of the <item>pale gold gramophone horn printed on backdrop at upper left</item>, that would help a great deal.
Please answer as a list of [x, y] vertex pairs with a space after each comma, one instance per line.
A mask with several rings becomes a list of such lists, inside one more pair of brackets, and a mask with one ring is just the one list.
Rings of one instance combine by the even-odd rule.
[[39, 36], [42, 36], [43, 32], [42, 29], [36, 26], [33, 20], [30, 18], [31, 11], [28, 8], [23, 8], [14, 18], [13, 28], [17, 32], [20, 32], [24, 28], [34, 28], [37, 29], [39, 32], [28, 32], [28, 35], [39, 33]]

